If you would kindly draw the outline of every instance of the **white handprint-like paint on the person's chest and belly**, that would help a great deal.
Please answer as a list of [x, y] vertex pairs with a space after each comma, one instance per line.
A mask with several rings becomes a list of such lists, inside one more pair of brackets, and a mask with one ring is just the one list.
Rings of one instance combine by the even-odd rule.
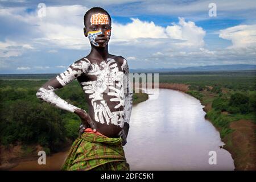
[[[108, 125], [112, 123], [123, 127], [125, 119], [123, 110], [111, 111], [103, 98], [104, 93], [108, 94], [108, 96], [114, 96], [114, 98], [110, 98], [111, 102], [118, 102], [114, 108], [125, 107], [123, 72], [119, 71], [114, 59], [108, 59], [106, 62], [102, 61], [100, 65], [90, 65], [91, 69], [87, 75], [96, 76], [97, 80], [81, 82], [81, 85], [84, 92], [89, 94], [89, 98], [92, 99], [95, 121]], [[122, 70], [123, 68], [124, 64], [122, 65]]]

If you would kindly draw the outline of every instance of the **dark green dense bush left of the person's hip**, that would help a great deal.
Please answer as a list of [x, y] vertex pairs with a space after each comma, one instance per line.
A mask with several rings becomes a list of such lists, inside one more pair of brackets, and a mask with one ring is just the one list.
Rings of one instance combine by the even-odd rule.
[[55, 151], [66, 140], [59, 110], [46, 103], [17, 100], [1, 108], [1, 144], [39, 143]]

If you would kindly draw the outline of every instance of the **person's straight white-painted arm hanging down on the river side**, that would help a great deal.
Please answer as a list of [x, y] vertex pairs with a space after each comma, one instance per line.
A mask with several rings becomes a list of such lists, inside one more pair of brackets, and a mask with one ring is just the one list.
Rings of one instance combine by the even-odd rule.
[[131, 89], [131, 83], [129, 79], [129, 66], [127, 64], [127, 60], [123, 59], [123, 89], [125, 93], [125, 108], [124, 108], [124, 115], [125, 115], [125, 123], [123, 125], [123, 130], [121, 131], [121, 137], [123, 139], [122, 145], [126, 144], [126, 138], [129, 132], [130, 127], [130, 117], [131, 117], [131, 109], [133, 107], [133, 89]]

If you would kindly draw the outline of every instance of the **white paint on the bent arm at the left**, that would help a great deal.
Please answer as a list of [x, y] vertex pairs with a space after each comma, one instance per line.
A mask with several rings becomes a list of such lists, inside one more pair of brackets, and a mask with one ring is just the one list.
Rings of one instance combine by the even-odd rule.
[[[62, 86], [65, 86], [79, 77], [82, 73], [88, 73], [90, 64], [88, 61], [76, 61], [68, 67], [68, 69], [56, 77], [56, 81], [59, 81]], [[48, 85], [47, 88], [40, 88], [36, 93], [36, 97], [39, 99], [48, 102], [51, 105], [70, 111], [74, 113], [75, 109], [80, 109], [79, 107], [68, 104], [67, 101], [64, 101], [62, 98], [55, 94], [55, 90], [58, 88], [53, 88], [53, 86]]]

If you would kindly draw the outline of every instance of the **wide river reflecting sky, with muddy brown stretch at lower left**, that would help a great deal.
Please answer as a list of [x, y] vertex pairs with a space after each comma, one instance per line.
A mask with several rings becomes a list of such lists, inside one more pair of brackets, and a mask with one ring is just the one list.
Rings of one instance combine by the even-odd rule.
[[[149, 96], [152, 98], [153, 96]], [[131, 170], [233, 170], [230, 153], [220, 146], [220, 133], [204, 118], [203, 105], [183, 92], [159, 89], [159, 97], [133, 106], [124, 146]], [[209, 155], [209, 152], [210, 153]], [[57, 170], [67, 152], [22, 162], [13, 170]], [[214, 164], [209, 164], [209, 158]]]

